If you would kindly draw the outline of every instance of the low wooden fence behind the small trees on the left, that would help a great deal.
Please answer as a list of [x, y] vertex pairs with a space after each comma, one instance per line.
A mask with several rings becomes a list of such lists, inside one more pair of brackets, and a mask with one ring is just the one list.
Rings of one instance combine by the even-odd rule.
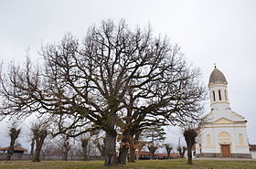
[[[7, 153], [0, 153], [0, 160], [5, 160], [7, 156]], [[40, 160], [41, 161], [61, 161], [63, 160], [64, 155], [62, 154], [41, 154]], [[11, 160], [13, 161], [32, 161], [33, 156], [31, 154], [26, 153], [14, 153], [12, 155]], [[83, 161], [84, 156], [83, 155], [68, 155], [69, 161]], [[88, 160], [103, 160], [103, 157], [101, 156], [89, 156]]]

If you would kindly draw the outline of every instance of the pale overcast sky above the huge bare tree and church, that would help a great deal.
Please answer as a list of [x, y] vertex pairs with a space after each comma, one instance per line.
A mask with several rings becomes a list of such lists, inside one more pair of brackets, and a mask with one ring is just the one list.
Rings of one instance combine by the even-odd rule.
[[[67, 32], [84, 37], [102, 19], [150, 23], [155, 36], [170, 37], [202, 70], [206, 85], [217, 63], [229, 82], [230, 108], [246, 117], [249, 141], [256, 144], [255, 9], [253, 0], [0, 0], [0, 58], [22, 62], [30, 48], [37, 59], [41, 44], [58, 43]], [[0, 137], [5, 132], [0, 126]], [[5, 143], [1, 138], [0, 146]]]

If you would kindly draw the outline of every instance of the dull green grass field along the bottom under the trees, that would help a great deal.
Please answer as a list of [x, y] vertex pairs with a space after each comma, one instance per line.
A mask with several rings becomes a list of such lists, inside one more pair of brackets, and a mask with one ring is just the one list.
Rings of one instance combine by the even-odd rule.
[[137, 161], [135, 164], [126, 164], [117, 167], [104, 167], [102, 161], [76, 162], [76, 161], [43, 161], [33, 163], [28, 161], [0, 161], [1, 169], [180, 169], [180, 168], [201, 168], [201, 169], [233, 169], [233, 168], [248, 168], [256, 169], [256, 161], [195, 161], [193, 165], [188, 165], [186, 160], [149, 160]]

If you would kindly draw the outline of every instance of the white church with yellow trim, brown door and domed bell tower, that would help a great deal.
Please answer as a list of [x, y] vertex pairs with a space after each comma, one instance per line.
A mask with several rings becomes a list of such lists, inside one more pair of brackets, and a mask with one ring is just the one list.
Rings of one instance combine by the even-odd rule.
[[196, 156], [251, 158], [246, 119], [229, 107], [228, 82], [215, 67], [208, 82], [211, 111], [197, 138]]

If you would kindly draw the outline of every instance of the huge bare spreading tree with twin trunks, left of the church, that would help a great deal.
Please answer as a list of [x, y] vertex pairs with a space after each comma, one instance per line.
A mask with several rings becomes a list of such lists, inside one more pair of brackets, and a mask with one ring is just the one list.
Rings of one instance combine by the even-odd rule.
[[202, 118], [199, 70], [167, 37], [153, 37], [150, 27], [102, 21], [85, 38], [69, 33], [40, 55], [42, 64], [27, 58], [24, 67], [1, 69], [1, 116], [47, 114], [58, 121], [57, 134], [69, 137], [102, 130], [107, 166], [125, 164], [147, 128]]

